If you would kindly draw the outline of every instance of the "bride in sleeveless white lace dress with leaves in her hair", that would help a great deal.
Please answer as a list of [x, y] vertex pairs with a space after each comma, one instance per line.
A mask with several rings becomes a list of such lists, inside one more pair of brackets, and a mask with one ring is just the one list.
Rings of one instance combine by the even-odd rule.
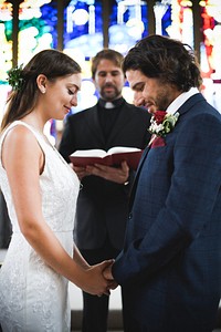
[[81, 68], [44, 50], [9, 73], [12, 92], [1, 124], [0, 187], [13, 234], [0, 270], [3, 331], [70, 331], [69, 280], [91, 294], [115, 288], [73, 243], [80, 183], [43, 134], [51, 118], [77, 105]]

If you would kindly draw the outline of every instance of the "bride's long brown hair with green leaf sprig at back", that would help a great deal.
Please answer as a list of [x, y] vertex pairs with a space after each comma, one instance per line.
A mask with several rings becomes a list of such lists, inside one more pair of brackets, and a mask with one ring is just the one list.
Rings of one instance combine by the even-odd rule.
[[15, 120], [20, 120], [34, 108], [39, 89], [36, 77], [44, 74], [51, 82], [57, 77], [81, 73], [81, 66], [72, 58], [57, 50], [44, 50], [30, 62], [9, 72], [12, 92], [7, 101], [8, 108], [1, 122], [1, 131]]

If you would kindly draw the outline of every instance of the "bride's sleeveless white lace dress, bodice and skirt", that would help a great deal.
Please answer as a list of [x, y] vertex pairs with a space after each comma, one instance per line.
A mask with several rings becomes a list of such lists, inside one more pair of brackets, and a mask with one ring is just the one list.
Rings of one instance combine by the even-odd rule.
[[[42, 210], [62, 246], [73, 255], [73, 227], [80, 181], [59, 152], [30, 125], [45, 155], [40, 176]], [[32, 184], [30, 184], [31, 186]], [[0, 187], [13, 227], [11, 242], [0, 269], [0, 324], [3, 331], [65, 332], [71, 329], [67, 280], [51, 269], [32, 249], [20, 231], [6, 172], [0, 160]]]

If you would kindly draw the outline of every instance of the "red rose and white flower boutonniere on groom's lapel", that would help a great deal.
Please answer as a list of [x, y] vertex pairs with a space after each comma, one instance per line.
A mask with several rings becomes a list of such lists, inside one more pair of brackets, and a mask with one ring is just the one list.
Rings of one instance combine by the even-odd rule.
[[156, 136], [166, 136], [166, 134], [169, 134], [173, 129], [178, 117], [178, 112], [169, 114], [166, 111], [156, 111], [150, 120], [148, 131]]

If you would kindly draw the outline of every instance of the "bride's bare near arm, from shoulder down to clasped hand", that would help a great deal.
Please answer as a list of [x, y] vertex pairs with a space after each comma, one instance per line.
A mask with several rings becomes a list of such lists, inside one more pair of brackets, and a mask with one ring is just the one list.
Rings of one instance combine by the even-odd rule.
[[21, 232], [33, 249], [57, 273], [85, 291], [93, 294], [106, 292], [108, 281], [102, 272], [109, 262], [83, 268], [69, 256], [43, 218], [39, 177], [44, 156], [35, 137], [24, 126], [14, 127], [4, 138], [2, 164]]

